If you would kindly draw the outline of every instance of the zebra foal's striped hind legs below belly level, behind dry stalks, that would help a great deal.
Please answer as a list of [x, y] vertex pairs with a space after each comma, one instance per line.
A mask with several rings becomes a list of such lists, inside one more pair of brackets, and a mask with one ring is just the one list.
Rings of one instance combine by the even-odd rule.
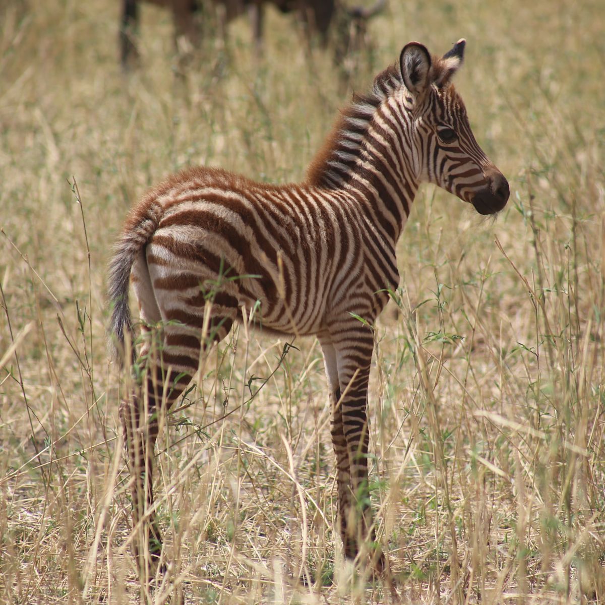
[[[218, 341], [231, 329], [231, 318], [213, 316], [212, 340]], [[149, 332], [153, 337], [160, 331]], [[162, 535], [156, 517], [153, 492], [154, 446], [163, 419], [191, 382], [206, 346], [191, 327], [168, 323], [161, 329], [160, 346], [149, 339], [136, 364], [141, 378], [131, 399], [120, 405], [120, 420], [125, 435], [131, 473], [132, 551], [142, 586], [154, 580], [162, 561]], [[165, 564], [161, 572], [165, 571]]]

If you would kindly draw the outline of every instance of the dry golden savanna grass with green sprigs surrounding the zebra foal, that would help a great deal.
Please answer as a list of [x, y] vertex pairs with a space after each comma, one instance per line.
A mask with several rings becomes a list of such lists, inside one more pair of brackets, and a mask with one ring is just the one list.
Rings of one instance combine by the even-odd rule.
[[[139, 598], [105, 345], [129, 206], [188, 165], [301, 179], [350, 90], [410, 40], [465, 37], [457, 88], [511, 199], [483, 220], [425, 186], [412, 209], [371, 378], [379, 540], [404, 602], [604, 603], [603, 4], [391, 0], [348, 82], [275, 11], [263, 60], [244, 18], [179, 79], [145, 7], [125, 78], [117, 2], [30, 4], [0, 5], [0, 602]], [[280, 364], [286, 342], [235, 331], [169, 417], [172, 581], [191, 603], [385, 602], [332, 529], [319, 345]]]

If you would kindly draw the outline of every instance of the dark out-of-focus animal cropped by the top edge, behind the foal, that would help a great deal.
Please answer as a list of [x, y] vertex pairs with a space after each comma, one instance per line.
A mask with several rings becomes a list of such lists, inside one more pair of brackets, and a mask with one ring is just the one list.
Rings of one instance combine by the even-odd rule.
[[[139, 4], [142, 0], [122, 0], [120, 20], [120, 60], [123, 70], [136, 65], [139, 53], [136, 36], [139, 28]], [[339, 0], [145, 0], [169, 8], [174, 21], [174, 41], [177, 53], [190, 53], [200, 44], [204, 19], [214, 16], [223, 43], [226, 24], [247, 11], [252, 22], [253, 40], [257, 54], [263, 45], [264, 8], [272, 4], [282, 13], [294, 13], [304, 30], [307, 42], [318, 38], [325, 47], [330, 29], [335, 31], [334, 52], [340, 62], [349, 51], [359, 50], [367, 31], [367, 23], [378, 15], [387, 0], [376, 0], [371, 7], [349, 7]], [[212, 15], [214, 11], [214, 15]]]

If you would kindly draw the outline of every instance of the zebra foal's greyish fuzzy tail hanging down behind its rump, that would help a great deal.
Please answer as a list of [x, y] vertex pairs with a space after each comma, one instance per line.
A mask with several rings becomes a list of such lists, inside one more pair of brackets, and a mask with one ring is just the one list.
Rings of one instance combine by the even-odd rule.
[[[159, 224], [161, 208], [154, 200], [143, 199], [126, 221], [122, 236], [117, 241], [109, 266], [108, 295], [111, 306], [111, 321], [108, 341], [111, 352], [122, 363], [128, 346], [134, 362], [134, 324], [128, 302], [130, 272], [137, 255], [151, 239]], [[128, 335], [128, 336], [126, 336]], [[129, 344], [126, 344], [126, 338]]]

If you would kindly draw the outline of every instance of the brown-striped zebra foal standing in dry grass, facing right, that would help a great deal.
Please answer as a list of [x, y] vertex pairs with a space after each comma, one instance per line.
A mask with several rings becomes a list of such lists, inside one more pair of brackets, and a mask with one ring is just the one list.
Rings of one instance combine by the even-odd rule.
[[[134, 333], [129, 281], [142, 329], [153, 337], [139, 353], [145, 372], [137, 393], [120, 406], [139, 535], [134, 552], [146, 578], [162, 550], [152, 491], [159, 412], [191, 381], [204, 348], [252, 309], [262, 328], [318, 337], [345, 556], [355, 558], [364, 541], [374, 540], [367, 462], [372, 326], [388, 300], [385, 290], [399, 284], [395, 247], [411, 203], [423, 182], [480, 214], [502, 210], [509, 195], [451, 83], [464, 48], [462, 39], [431, 57], [422, 44], [405, 45], [370, 92], [353, 97], [302, 183], [265, 185], [193, 168], [169, 177], [132, 210], [109, 291], [118, 348]], [[380, 570], [379, 553], [374, 563]]]

